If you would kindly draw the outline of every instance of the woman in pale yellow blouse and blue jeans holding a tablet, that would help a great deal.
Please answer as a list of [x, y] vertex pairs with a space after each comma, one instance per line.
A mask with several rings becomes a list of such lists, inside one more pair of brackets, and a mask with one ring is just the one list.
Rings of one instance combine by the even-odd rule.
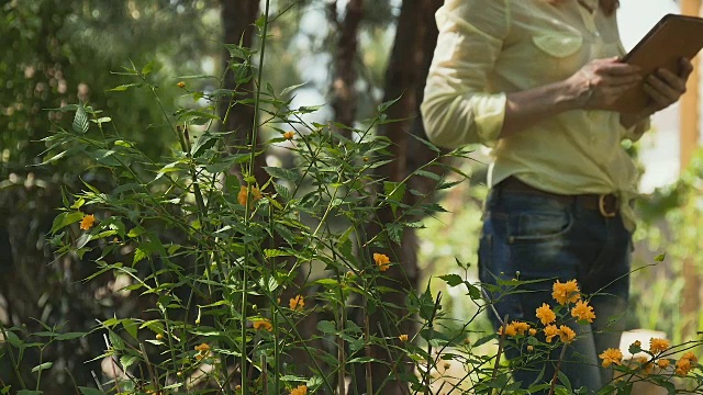
[[[493, 148], [479, 275], [494, 298], [494, 325], [505, 316], [536, 321], [537, 307], [554, 305], [554, 280], [598, 293], [596, 319], [572, 326], [578, 337], [560, 365], [572, 387], [591, 391], [610, 381], [598, 354], [618, 347], [622, 319], [611, 318], [628, 296], [636, 171], [621, 142], [637, 140], [649, 115], [681, 97], [692, 70], [681, 59], [679, 75], [643, 80], [620, 63], [616, 8], [617, 0], [446, 0], [422, 104], [435, 144]], [[609, 110], [637, 84], [651, 104]], [[507, 295], [491, 286], [513, 278], [544, 281]], [[523, 387], [553, 375], [554, 363], [514, 373]]]

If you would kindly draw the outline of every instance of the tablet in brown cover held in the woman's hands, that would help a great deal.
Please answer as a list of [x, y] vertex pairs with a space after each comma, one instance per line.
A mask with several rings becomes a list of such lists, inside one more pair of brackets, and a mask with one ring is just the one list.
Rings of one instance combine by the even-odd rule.
[[[679, 74], [679, 59], [693, 58], [703, 47], [703, 19], [667, 14], [623, 57], [622, 61], [641, 68], [647, 77], [659, 68]], [[644, 82], [643, 82], [644, 83]], [[643, 83], [626, 91], [614, 103], [614, 111], [638, 112], [649, 103]]]

